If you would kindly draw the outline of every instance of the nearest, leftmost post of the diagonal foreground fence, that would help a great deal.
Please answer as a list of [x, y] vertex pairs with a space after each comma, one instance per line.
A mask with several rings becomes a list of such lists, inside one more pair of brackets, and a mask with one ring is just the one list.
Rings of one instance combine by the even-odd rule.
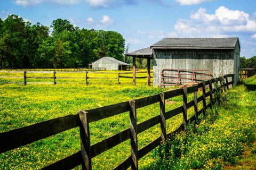
[[87, 112], [79, 111], [79, 119], [81, 121], [80, 128], [80, 141], [81, 141], [81, 154], [82, 154], [82, 169], [91, 170], [91, 142], [90, 142], [90, 130]]

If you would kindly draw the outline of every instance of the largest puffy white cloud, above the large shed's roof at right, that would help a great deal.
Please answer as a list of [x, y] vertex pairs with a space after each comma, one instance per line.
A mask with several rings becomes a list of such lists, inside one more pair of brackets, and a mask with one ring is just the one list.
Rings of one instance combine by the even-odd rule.
[[190, 19], [179, 20], [174, 25], [174, 30], [179, 35], [193, 36], [226, 36], [231, 33], [256, 33], [256, 20], [244, 11], [229, 10], [220, 6], [215, 13], [206, 13], [205, 8], [191, 12]]

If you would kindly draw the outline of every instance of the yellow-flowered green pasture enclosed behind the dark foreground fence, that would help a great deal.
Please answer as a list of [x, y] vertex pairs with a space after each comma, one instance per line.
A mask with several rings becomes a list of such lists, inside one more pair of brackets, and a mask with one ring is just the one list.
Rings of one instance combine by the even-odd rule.
[[[114, 73], [116, 73], [114, 71]], [[13, 75], [14, 74], [14, 75]], [[4, 73], [4, 76], [21, 76], [18, 73]], [[71, 74], [71, 73], [70, 73]], [[64, 74], [67, 77], [79, 77], [81, 73]], [[3, 74], [2, 74], [3, 75]], [[108, 77], [109, 74], [91, 76]], [[127, 74], [126, 74], [127, 75]], [[27, 75], [30, 76], [30, 75]], [[42, 76], [35, 73], [33, 76]], [[58, 76], [58, 75], [57, 75]], [[138, 75], [138, 76], [145, 76]], [[90, 74], [89, 74], [90, 77]], [[35, 81], [37, 81], [36, 79]], [[62, 79], [63, 80], [63, 79]], [[0, 81], [6, 81], [1, 78]], [[22, 79], [20, 80], [22, 82]], [[45, 81], [43, 79], [42, 81]], [[89, 80], [86, 86], [84, 80], [73, 83], [74, 79], [67, 79], [64, 83], [52, 84], [0, 84], [0, 132], [9, 131], [22, 126], [50, 120], [69, 114], [76, 114], [79, 109], [92, 109], [116, 104], [129, 99], [146, 97], [166, 89], [147, 87], [146, 79], [138, 79], [137, 86], [132, 85], [132, 79], [107, 80], [99, 83]], [[29, 82], [29, 81], [28, 81]], [[72, 83], [70, 83], [72, 82]], [[202, 92], [198, 92], [202, 95]], [[188, 96], [188, 101], [193, 95]], [[182, 106], [182, 96], [167, 100], [166, 111]], [[202, 108], [202, 104], [198, 109]], [[188, 110], [192, 115], [194, 108]], [[159, 104], [153, 104], [137, 110], [138, 123], [159, 115]], [[167, 133], [172, 132], [182, 123], [182, 114], [166, 121]], [[90, 123], [91, 144], [106, 139], [111, 135], [129, 128], [129, 113]], [[160, 135], [160, 125], [138, 135], [139, 149], [153, 141]], [[33, 142], [29, 145], [0, 154], [0, 169], [38, 169], [57, 160], [65, 158], [80, 150], [79, 129], [71, 129], [52, 137]], [[130, 155], [130, 140], [100, 154], [92, 159], [93, 169], [111, 169]], [[152, 152], [142, 158], [139, 166], [143, 167], [152, 162]], [[77, 167], [79, 169], [79, 167]]]

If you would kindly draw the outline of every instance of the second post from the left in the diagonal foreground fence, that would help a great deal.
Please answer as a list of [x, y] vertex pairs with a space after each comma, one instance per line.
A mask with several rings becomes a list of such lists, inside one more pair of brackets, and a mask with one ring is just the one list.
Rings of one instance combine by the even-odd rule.
[[138, 169], [137, 111], [135, 101], [130, 100], [131, 169]]

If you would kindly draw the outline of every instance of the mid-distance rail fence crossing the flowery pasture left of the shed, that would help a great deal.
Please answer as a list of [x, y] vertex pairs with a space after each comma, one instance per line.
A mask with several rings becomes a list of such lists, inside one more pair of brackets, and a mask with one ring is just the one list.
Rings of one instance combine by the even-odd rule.
[[[2, 71], [6, 72], [6, 71]], [[7, 71], [9, 72], [9, 71]], [[11, 71], [12, 73], [22, 73], [22, 71]], [[27, 73], [49, 73], [53, 74], [52, 77], [27, 77]], [[88, 80], [90, 79], [105, 79], [105, 80], [110, 80], [110, 79], [115, 79], [117, 80], [117, 83], [120, 84], [120, 78], [128, 78], [132, 79], [132, 76], [124, 76], [123, 74], [132, 74], [133, 72], [124, 72], [124, 73], [110, 73], [110, 72], [88, 72], [84, 71], [85, 76], [84, 77], [57, 77], [56, 74], [58, 72], [56, 71], [23, 71], [23, 77], [9, 77], [9, 76], [0, 76], [0, 78], [14, 78], [14, 79], [23, 79], [23, 84], [27, 84], [28, 79], [53, 79], [52, 82], [38, 82], [38, 83], [53, 83], [53, 85], [57, 84], [56, 79], [84, 79], [85, 84], [89, 83]], [[61, 73], [65, 73], [62, 71]], [[68, 73], [77, 73], [76, 71], [71, 72], [68, 71]], [[136, 73], [147, 73], [146, 71], [137, 71]], [[151, 72], [152, 73], [152, 72]], [[89, 74], [115, 74], [116, 77], [90, 77]], [[136, 79], [145, 79], [147, 77], [136, 77]], [[22, 82], [2, 82], [2, 83], [22, 83]]]

